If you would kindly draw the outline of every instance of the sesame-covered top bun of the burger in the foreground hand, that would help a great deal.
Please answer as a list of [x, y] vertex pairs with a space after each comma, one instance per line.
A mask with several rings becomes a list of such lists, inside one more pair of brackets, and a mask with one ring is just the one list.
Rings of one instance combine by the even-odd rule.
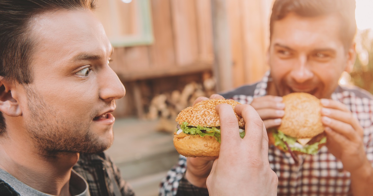
[[[241, 104], [231, 99], [204, 100], [202, 102], [196, 103], [194, 106], [183, 109], [176, 117], [176, 122], [178, 122], [179, 124], [188, 122], [189, 126], [194, 127], [197, 127], [197, 125], [200, 125], [202, 127], [219, 127], [219, 114], [216, 113], [215, 106], [221, 103], [228, 103], [232, 106], [233, 110], [234, 106], [236, 106], [237, 104]], [[244, 119], [241, 116], [238, 116], [236, 112], [234, 113], [238, 120], [238, 126], [245, 127]]]

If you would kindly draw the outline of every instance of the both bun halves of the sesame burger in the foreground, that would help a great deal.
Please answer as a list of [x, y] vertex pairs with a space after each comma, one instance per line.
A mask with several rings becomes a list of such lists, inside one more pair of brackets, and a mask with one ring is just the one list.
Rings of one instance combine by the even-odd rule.
[[[234, 100], [209, 99], [196, 103], [194, 106], [185, 108], [176, 117], [176, 122], [182, 124], [188, 122], [189, 126], [197, 127], [220, 127], [219, 114], [215, 106], [228, 103], [234, 106], [240, 104]], [[245, 127], [244, 119], [235, 112], [239, 127]], [[190, 135], [185, 133], [176, 134], [173, 144], [179, 154], [187, 157], [219, 156], [220, 143], [213, 136]]]

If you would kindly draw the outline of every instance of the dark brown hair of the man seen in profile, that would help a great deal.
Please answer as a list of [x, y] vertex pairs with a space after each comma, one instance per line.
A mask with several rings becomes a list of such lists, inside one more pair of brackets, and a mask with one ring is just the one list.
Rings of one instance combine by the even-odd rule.
[[[29, 61], [33, 42], [28, 32], [33, 16], [50, 10], [94, 9], [95, 0], [0, 0], [0, 76], [19, 84], [33, 81]], [[0, 88], [3, 89], [3, 88]], [[0, 134], [6, 125], [0, 112]]]

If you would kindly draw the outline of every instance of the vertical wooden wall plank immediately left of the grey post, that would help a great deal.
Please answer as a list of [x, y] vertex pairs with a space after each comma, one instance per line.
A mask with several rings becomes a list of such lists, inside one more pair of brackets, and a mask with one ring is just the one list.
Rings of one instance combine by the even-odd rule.
[[198, 59], [203, 62], [213, 62], [211, 0], [197, 0], [197, 32]]

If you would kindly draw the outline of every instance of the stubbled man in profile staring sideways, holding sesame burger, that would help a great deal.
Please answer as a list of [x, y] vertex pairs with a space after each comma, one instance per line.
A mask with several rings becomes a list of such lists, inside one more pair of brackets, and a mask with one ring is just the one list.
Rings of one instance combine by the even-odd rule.
[[[125, 88], [109, 67], [113, 47], [92, 13], [93, 1], [0, 0], [1, 196], [134, 195], [103, 153], [113, 142], [110, 112]], [[262, 187], [275, 195], [277, 176], [263, 145], [263, 121], [250, 105], [235, 109], [255, 131], [245, 140], [231, 137], [238, 136], [235, 113], [229, 105], [216, 107], [226, 133], [225, 159], [214, 165], [207, 184], [221, 193], [229, 183], [238, 184], [224, 180], [233, 175], [224, 171], [239, 158], [229, 146], [242, 144], [239, 149], [258, 160], [260, 169], [244, 164], [239, 174], [252, 176], [247, 182], [253, 186], [235, 193]], [[244, 143], [254, 145], [248, 149]]]

